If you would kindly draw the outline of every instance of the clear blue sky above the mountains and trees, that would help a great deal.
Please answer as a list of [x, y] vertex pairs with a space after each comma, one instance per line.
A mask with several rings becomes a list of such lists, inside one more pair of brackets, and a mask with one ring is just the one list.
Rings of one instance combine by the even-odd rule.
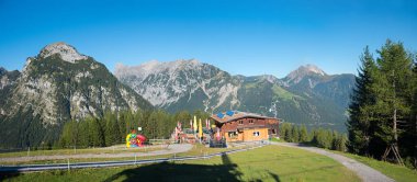
[[369, 45], [417, 50], [417, 1], [0, 0], [0, 66], [66, 42], [113, 71], [117, 62], [195, 58], [233, 75], [284, 77], [314, 64], [356, 73]]

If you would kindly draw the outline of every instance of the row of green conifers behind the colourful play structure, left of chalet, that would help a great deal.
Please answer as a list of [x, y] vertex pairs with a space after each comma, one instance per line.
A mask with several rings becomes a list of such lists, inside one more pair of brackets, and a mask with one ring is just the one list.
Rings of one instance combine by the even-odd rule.
[[132, 129], [137, 130], [142, 127], [139, 134], [148, 139], [169, 138], [178, 122], [182, 127], [190, 127], [190, 120], [193, 116], [198, 118], [208, 118], [208, 114], [202, 111], [189, 113], [181, 111], [174, 114], [165, 111], [120, 111], [104, 112], [103, 117], [86, 117], [81, 121], [67, 122], [60, 134], [57, 147], [106, 147], [115, 144], [125, 143], [126, 135]]

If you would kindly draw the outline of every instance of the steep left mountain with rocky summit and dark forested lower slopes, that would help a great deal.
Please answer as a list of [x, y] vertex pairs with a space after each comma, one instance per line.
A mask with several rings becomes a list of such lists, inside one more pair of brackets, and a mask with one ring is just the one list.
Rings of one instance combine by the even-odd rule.
[[0, 88], [7, 88], [1, 90], [7, 93], [0, 104], [0, 146], [50, 145], [69, 120], [102, 116], [106, 110], [153, 107], [104, 65], [65, 43], [27, 58], [22, 73], [0, 77]]

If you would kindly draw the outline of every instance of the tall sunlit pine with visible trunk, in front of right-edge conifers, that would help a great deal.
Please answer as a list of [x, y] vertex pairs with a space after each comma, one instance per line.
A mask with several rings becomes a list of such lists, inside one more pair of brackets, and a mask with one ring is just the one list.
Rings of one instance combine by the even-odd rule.
[[398, 138], [402, 128], [398, 122], [408, 120], [412, 90], [412, 57], [408, 55], [402, 43], [386, 44], [379, 50], [379, 71], [372, 91], [375, 93], [376, 103], [373, 111], [377, 113], [376, 136], [386, 145], [383, 159], [391, 150], [394, 151], [398, 162], [402, 163], [398, 149]]

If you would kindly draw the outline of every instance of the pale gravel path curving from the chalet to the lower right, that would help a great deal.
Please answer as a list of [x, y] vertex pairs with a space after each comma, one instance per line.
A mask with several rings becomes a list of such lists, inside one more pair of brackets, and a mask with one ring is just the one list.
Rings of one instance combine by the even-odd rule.
[[347, 158], [341, 155], [333, 153], [329, 151], [326, 151], [324, 149], [317, 148], [317, 147], [309, 147], [309, 146], [304, 146], [300, 144], [293, 144], [293, 143], [271, 143], [273, 145], [278, 146], [285, 146], [285, 147], [295, 147], [308, 151], [313, 151], [315, 153], [324, 155], [327, 156], [331, 159], [335, 159], [336, 161], [340, 162], [345, 167], [347, 167], [349, 170], [356, 172], [359, 178], [362, 179], [362, 181], [372, 181], [372, 182], [392, 182], [394, 181], [393, 179], [384, 175], [380, 171], [376, 171], [372, 169], [371, 167], [368, 167], [361, 162], [358, 162], [353, 159]]

